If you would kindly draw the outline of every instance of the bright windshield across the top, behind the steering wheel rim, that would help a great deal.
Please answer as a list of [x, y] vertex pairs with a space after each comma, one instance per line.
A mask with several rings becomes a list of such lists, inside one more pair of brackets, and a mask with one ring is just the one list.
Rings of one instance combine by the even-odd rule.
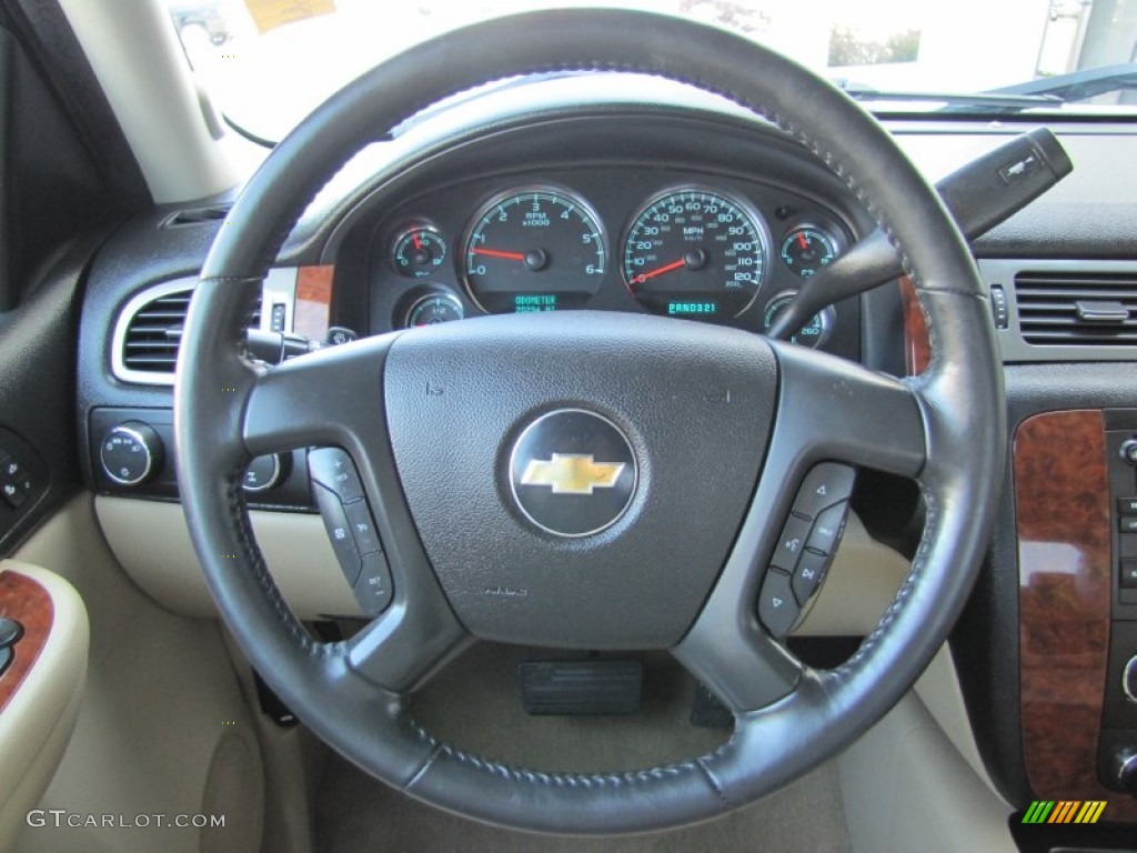
[[1137, 115], [1134, 0], [165, 2], [214, 103], [266, 143], [416, 42], [490, 17], [568, 6], [650, 9], [731, 30], [810, 66], [877, 113]]

